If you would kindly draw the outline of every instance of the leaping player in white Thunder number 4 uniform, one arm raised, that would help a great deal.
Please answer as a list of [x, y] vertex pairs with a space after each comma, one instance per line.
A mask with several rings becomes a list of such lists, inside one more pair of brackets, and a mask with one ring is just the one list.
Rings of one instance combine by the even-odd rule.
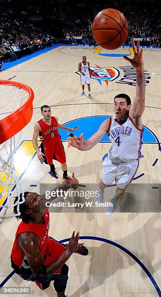
[[115, 196], [111, 199], [113, 207], [107, 209], [107, 215], [111, 215], [120, 198], [129, 183], [132, 181], [139, 165], [139, 154], [143, 137], [143, 124], [141, 116], [145, 110], [145, 78], [143, 67], [143, 51], [137, 42], [133, 59], [124, 56], [136, 69], [136, 95], [131, 107], [131, 99], [126, 94], [119, 94], [114, 98], [115, 116], [106, 119], [88, 140], [83, 140], [83, 133], [80, 138], [73, 136], [68, 147], [73, 146], [80, 150], [93, 148], [107, 133], [112, 142], [112, 146], [103, 157], [102, 162], [102, 180], [99, 185], [98, 202], [103, 201], [103, 191], [107, 185], [116, 181], [117, 190]]

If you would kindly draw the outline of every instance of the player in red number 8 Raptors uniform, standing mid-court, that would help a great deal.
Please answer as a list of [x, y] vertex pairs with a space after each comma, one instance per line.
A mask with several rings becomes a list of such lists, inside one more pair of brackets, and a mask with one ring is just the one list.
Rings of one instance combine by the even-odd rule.
[[[50, 174], [53, 177], [56, 177], [53, 159], [57, 160], [61, 163], [63, 179], [67, 179], [66, 155], [59, 136], [58, 128], [75, 131], [78, 127], [69, 128], [59, 124], [58, 118], [51, 116], [51, 109], [48, 105], [43, 105], [41, 107], [41, 112], [43, 118], [35, 124], [32, 137], [32, 143], [36, 149], [38, 159], [50, 165]], [[41, 150], [37, 143], [38, 136], [40, 136], [40, 139], [42, 140]]]

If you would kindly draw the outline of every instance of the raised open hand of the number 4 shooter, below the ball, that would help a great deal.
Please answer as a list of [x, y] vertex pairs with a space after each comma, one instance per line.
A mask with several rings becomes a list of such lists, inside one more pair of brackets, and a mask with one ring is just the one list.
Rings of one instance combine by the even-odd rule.
[[140, 42], [137, 42], [137, 48], [135, 47], [134, 41], [132, 41], [132, 48], [134, 52], [133, 59], [130, 59], [127, 56], [124, 56], [124, 59], [132, 64], [132, 66], [138, 70], [143, 70], [143, 49], [140, 49]]

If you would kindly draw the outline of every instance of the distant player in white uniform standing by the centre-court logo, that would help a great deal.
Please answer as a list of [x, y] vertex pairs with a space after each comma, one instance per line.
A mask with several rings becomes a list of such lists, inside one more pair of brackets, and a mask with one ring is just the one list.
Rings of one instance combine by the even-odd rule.
[[81, 96], [85, 95], [85, 84], [87, 83], [87, 85], [88, 85], [88, 97], [90, 99], [92, 99], [92, 95], [90, 93], [91, 73], [90, 73], [89, 62], [87, 62], [87, 57], [86, 56], [83, 56], [82, 57], [82, 62], [79, 62], [78, 71], [81, 74], [80, 75], [81, 85], [82, 85], [82, 94], [81, 94]]

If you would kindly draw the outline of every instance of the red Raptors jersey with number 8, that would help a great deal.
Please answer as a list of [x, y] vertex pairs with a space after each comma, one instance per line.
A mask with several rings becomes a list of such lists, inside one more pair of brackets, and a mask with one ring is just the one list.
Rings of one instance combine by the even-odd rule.
[[51, 116], [51, 125], [46, 124], [43, 119], [39, 120], [38, 123], [42, 130], [44, 144], [52, 146], [61, 141], [58, 131], [58, 122], [54, 116]]

